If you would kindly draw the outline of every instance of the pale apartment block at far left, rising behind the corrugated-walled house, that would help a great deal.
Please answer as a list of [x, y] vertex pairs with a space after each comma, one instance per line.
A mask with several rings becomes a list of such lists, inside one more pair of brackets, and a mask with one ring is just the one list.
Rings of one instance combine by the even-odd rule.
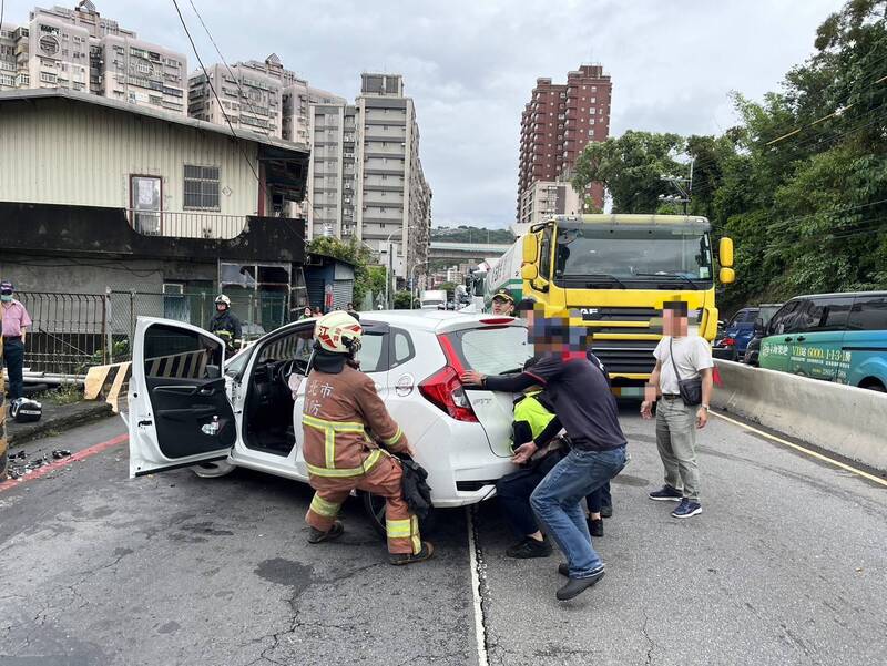
[[137, 39], [88, 0], [0, 30], [0, 90], [61, 88], [187, 115], [183, 53]]

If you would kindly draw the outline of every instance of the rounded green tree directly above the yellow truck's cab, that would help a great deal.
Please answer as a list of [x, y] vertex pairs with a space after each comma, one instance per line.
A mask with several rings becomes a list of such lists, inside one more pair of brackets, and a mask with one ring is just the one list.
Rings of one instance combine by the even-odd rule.
[[602, 183], [613, 197], [613, 212], [654, 213], [667, 187], [662, 175], [686, 173], [675, 160], [683, 150], [684, 140], [677, 134], [632, 130], [589, 143], [577, 160], [573, 188], [584, 192], [591, 183]]

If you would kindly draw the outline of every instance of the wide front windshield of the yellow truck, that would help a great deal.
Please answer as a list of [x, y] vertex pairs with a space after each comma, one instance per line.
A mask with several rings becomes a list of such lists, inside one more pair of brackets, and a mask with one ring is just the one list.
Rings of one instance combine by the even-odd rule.
[[706, 289], [708, 234], [663, 226], [561, 228], [554, 281], [585, 289]]

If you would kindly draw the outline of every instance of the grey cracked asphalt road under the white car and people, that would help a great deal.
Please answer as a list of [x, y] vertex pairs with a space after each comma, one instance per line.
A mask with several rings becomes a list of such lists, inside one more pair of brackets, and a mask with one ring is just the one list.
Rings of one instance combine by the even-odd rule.
[[[704, 513], [679, 522], [652, 424], [595, 540], [606, 577], [561, 604], [558, 557], [512, 561], [475, 516], [490, 664], [887, 663], [887, 489], [713, 419]], [[116, 420], [24, 450], [83, 449]], [[308, 546], [308, 489], [237, 471], [126, 479], [125, 444], [0, 490], [0, 665], [478, 664], [466, 514], [430, 563], [391, 567], [357, 502]]]

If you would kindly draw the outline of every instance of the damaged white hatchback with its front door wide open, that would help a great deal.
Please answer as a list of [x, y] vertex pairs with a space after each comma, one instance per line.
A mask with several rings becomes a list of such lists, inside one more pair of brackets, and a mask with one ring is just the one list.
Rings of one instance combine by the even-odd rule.
[[[428, 470], [435, 506], [495, 492], [510, 462], [512, 396], [465, 389], [459, 375], [518, 371], [532, 356], [518, 319], [450, 311], [361, 316], [358, 359]], [[205, 330], [139, 318], [130, 381], [130, 477], [195, 467], [202, 477], [244, 467], [308, 480], [303, 457], [305, 369], [315, 319], [259, 338], [225, 365]], [[222, 369], [224, 368], [224, 372]], [[294, 399], [295, 396], [295, 399]], [[365, 505], [380, 522], [383, 503]]]

